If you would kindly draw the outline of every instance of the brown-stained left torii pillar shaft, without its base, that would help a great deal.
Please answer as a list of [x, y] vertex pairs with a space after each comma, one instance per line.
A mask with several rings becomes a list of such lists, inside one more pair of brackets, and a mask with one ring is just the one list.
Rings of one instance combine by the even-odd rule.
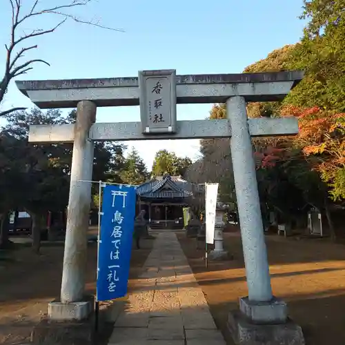
[[87, 230], [91, 203], [91, 184], [94, 146], [88, 137], [96, 121], [96, 105], [92, 101], [79, 101], [75, 123], [72, 166], [70, 171], [70, 197], [66, 226], [65, 253], [61, 282], [61, 302], [83, 300]]

